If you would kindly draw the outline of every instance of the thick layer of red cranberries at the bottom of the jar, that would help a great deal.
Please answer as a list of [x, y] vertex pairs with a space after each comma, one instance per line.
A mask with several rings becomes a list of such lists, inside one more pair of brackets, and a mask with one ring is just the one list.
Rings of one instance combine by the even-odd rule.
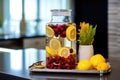
[[47, 68], [50, 69], [75, 69], [75, 55], [70, 54], [67, 58], [56, 55], [47, 58]]

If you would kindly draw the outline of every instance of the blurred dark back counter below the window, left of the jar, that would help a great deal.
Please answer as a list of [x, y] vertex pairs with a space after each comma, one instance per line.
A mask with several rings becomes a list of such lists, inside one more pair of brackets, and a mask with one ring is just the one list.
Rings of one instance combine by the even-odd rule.
[[41, 41], [44, 40], [45, 35], [40, 34], [0, 34], [0, 47], [11, 49], [23, 49], [28, 47], [40, 48]]

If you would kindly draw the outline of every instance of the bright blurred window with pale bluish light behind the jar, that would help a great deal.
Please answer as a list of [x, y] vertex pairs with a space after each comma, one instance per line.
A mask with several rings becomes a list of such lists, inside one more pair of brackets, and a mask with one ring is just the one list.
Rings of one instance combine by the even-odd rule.
[[0, 0], [0, 18], [4, 31], [20, 33], [22, 17], [27, 22], [27, 32], [45, 35], [45, 25], [50, 22], [51, 9], [68, 9], [70, 0]]

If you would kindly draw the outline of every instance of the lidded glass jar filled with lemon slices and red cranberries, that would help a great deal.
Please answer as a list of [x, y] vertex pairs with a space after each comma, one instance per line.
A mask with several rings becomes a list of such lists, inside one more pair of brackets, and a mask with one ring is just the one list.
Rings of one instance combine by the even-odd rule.
[[46, 67], [49, 69], [76, 68], [76, 24], [71, 10], [51, 10], [51, 22], [46, 24]]

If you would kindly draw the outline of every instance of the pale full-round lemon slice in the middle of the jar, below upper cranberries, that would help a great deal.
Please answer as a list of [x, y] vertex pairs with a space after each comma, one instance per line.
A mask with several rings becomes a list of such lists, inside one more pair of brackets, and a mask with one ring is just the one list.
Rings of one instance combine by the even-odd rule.
[[60, 44], [60, 41], [58, 39], [55, 39], [55, 38], [52, 38], [50, 40], [50, 48], [57, 51], [60, 47], [61, 47], [61, 44]]

